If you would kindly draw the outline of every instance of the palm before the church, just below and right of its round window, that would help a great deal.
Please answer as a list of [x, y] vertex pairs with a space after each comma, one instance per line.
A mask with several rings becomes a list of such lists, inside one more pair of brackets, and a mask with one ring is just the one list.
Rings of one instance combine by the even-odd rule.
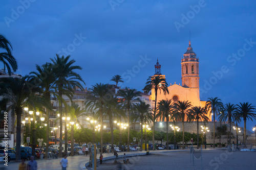
[[181, 121], [182, 121], [182, 131], [183, 131], [183, 137], [182, 137], [182, 144], [184, 149], [184, 137], [185, 137], [185, 130], [184, 130], [184, 120], [190, 120], [190, 112], [189, 108], [192, 106], [190, 102], [188, 101], [178, 101], [175, 104], [176, 111], [180, 114]]

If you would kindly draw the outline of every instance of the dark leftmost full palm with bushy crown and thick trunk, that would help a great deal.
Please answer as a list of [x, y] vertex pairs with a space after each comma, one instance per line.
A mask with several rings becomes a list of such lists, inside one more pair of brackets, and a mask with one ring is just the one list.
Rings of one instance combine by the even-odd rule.
[[[0, 79], [0, 89], [5, 91], [1, 94], [3, 99], [7, 99], [7, 110], [14, 110], [16, 119], [16, 161], [20, 161], [20, 128], [22, 124], [23, 108], [27, 105], [26, 101], [30, 98], [35, 88], [30, 89], [28, 76], [17, 78]], [[32, 91], [33, 90], [33, 91]]]

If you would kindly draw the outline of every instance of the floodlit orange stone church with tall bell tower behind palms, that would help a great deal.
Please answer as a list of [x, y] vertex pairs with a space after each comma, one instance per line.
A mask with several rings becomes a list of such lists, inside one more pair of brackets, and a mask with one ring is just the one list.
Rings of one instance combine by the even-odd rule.
[[[165, 78], [165, 75], [161, 74], [161, 65], [158, 60], [155, 65], [156, 74]], [[206, 101], [200, 100], [199, 94], [199, 59], [196, 53], [193, 51], [190, 40], [188, 43], [187, 51], [183, 54], [181, 59], [181, 80], [182, 85], [170, 84], [168, 86], [169, 94], [164, 94], [160, 91], [157, 93], [157, 103], [161, 100], [172, 99], [173, 102], [177, 101], [189, 101], [192, 106], [204, 107]], [[155, 90], [152, 89], [150, 99], [155, 101]], [[209, 121], [211, 121], [210, 112], [207, 113]], [[156, 122], [160, 122], [158, 118]]]

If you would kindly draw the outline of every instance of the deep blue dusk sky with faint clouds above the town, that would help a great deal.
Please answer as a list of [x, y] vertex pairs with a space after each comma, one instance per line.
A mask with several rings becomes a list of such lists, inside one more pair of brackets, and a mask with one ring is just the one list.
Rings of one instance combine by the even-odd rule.
[[[17, 74], [56, 53], [71, 55], [90, 88], [111, 83], [142, 91], [157, 58], [168, 84], [181, 84], [189, 41], [199, 58], [201, 100], [256, 106], [255, 1], [2, 1], [0, 34], [12, 44]], [[3, 64], [0, 63], [0, 67]], [[248, 122], [252, 130], [254, 123]]]

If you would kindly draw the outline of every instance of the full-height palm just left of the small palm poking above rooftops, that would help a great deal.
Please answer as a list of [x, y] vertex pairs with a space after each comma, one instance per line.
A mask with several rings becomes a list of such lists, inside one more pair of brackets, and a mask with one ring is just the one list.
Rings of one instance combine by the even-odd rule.
[[[90, 88], [90, 96], [87, 102], [89, 108], [99, 109], [100, 125], [103, 125], [103, 106], [109, 99], [110, 91], [108, 90], [108, 84], [98, 84]], [[103, 151], [103, 131], [100, 128], [100, 151]]]

